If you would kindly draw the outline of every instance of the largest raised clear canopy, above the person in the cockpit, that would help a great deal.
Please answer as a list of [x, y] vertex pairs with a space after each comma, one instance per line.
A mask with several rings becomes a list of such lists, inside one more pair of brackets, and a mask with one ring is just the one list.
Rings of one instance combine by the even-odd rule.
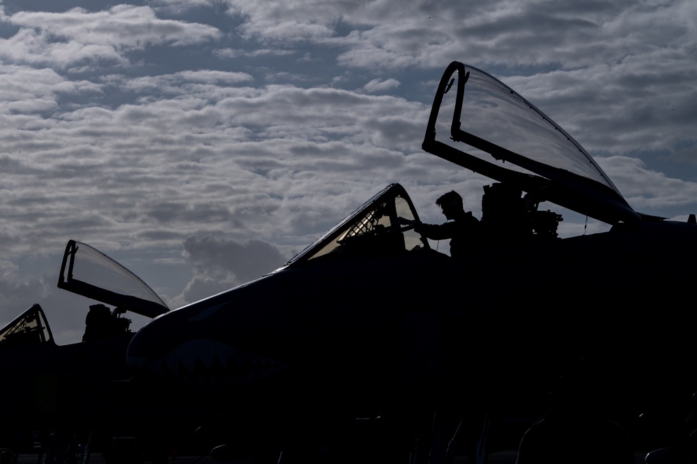
[[[452, 112], [452, 119], [438, 120], [441, 110]], [[450, 140], [436, 140], [443, 131]], [[641, 217], [572, 136], [504, 83], [469, 65], [453, 62], [445, 70], [422, 148], [520, 189], [535, 203], [550, 201], [610, 224]]]

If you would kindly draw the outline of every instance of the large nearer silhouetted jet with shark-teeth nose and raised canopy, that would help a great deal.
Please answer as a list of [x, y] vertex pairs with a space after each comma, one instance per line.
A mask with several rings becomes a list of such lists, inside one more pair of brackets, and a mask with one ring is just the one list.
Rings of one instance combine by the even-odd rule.
[[[464, 419], [461, 447], [515, 447], [560, 373], [590, 356], [635, 446], [664, 446], [652, 417], [687, 416], [697, 390], [684, 303], [697, 277], [694, 216], [634, 211], [572, 136], [461, 63], [443, 74], [422, 147], [494, 181], [465, 256], [415, 231], [399, 184], [280, 269], [171, 312], [140, 280], [132, 291], [76, 278], [99, 275], [82, 266], [102, 257], [71, 241], [59, 286], [157, 316], [125, 351], [131, 380], [112, 414], [137, 427], [123, 433], [165, 447], [199, 427], [197, 445], [222, 459], [435, 462], [447, 440], [433, 431], [447, 427], [434, 413]], [[611, 230], [561, 239], [562, 216], [544, 202]]]

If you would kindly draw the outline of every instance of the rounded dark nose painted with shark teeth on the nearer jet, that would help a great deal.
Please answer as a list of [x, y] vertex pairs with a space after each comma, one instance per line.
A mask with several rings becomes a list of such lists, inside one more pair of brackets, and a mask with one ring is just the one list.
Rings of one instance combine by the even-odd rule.
[[286, 369], [282, 362], [236, 346], [230, 331], [220, 330], [227, 326], [222, 317], [213, 317], [220, 309], [182, 308], [141, 328], [126, 353], [133, 375], [224, 387], [252, 383]]

